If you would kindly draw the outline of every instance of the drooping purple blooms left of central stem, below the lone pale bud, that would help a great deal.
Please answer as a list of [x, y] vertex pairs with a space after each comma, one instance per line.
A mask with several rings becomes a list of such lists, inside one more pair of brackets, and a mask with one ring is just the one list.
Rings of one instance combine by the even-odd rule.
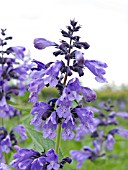
[[45, 85], [55, 87], [58, 84], [58, 75], [61, 66], [62, 62], [56, 61], [55, 63], [50, 64], [47, 69], [41, 67], [41, 70], [33, 70], [31, 73], [32, 80], [28, 85], [28, 90], [31, 92], [29, 96], [30, 102], [37, 101], [38, 94]]

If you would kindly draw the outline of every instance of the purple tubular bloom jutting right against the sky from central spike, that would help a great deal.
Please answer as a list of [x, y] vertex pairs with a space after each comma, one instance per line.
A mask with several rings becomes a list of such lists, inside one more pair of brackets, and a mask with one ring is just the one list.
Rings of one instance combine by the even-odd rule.
[[106, 73], [104, 70], [104, 68], [107, 67], [106, 63], [102, 63], [97, 60], [85, 60], [84, 65], [96, 76], [96, 81], [100, 83], [107, 82], [107, 80], [103, 77]]

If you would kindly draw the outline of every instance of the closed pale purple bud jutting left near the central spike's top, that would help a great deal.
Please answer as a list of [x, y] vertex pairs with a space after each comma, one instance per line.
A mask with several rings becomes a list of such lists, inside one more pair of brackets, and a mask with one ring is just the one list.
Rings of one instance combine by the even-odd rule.
[[56, 43], [46, 40], [44, 38], [34, 39], [34, 47], [37, 48], [38, 50], [42, 50], [46, 47], [55, 46], [55, 45]]

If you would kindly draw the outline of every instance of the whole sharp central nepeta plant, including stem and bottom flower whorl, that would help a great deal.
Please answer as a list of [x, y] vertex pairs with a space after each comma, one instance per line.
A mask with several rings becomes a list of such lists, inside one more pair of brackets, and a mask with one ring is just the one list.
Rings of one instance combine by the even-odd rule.
[[[48, 169], [58, 170], [64, 164], [71, 163], [71, 158], [64, 157], [58, 161], [60, 140], [73, 140], [76, 138], [78, 128], [92, 132], [95, 128], [94, 115], [90, 109], [83, 105], [83, 101], [91, 102], [96, 99], [96, 93], [89, 87], [81, 85], [79, 77], [84, 76], [84, 70], [88, 68], [95, 76], [96, 81], [107, 82], [104, 78], [107, 64], [84, 58], [82, 49], [87, 50], [90, 45], [80, 41], [80, 36], [75, 35], [80, 25], [75, 20], [70, 21], [67, 30], [61, 30], [62, 39], [60, 44], [44, 38], [36, 38], [34, 47], [43, 50], [47, 47], [55, 47], [53, 56], [58, 57], [55, 62], [42, 63], [33, 60], [31, 81], [28, 84], [30, 91], [29, 101], [33, 102], [31, 124], [35, 129], [41, 130], [44, 138], [50, 140], [56, 138], [55, 148], [41, 153], [18, 148], [11, 162], [13, 168], [19, 169]], [[74, 76], [74, 72], [78, 76]], [[47, 102], [38, 101], [38, 94], [44, 87], [55, 87], [59, 97], [51, 98]]]

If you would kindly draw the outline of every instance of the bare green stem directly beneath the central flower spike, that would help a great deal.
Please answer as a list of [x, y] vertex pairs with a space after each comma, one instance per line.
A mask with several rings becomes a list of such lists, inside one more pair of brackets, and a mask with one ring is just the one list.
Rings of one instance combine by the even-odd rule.
[[55, 152], [58, 154], [59, 153], [59, 146], [60, 146], [60, 140], [61, 140], [61, 124], [58, 124], [58, 129], [57, 129], [57, 137], [56, 137], [56, 146], [55, 146]]

